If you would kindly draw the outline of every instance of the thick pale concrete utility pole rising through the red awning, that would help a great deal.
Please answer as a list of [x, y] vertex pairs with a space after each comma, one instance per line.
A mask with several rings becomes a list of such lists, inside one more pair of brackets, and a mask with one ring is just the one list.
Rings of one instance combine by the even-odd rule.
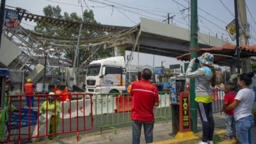
[[[248, 27], [247, 27], [247, 18], [246, 18], [246, 4], [245, 4], [245, 0], [238, 0], [237, 1], [237, 9], [238, 9], [238, 22], [239, 22], [239, 26], [242, 29], [242, 33], [239, 36], [239, 41], [240, 41], [240, 45], [248, 45], [249, 44], [249, 40], [248, 40]], [[251, 72], [252, 71], [252, 67], [251, 67], [251, 58], [242, 58], [241, 59], [242, 62], [242, 73], [247, 73], [247, 72]]]

